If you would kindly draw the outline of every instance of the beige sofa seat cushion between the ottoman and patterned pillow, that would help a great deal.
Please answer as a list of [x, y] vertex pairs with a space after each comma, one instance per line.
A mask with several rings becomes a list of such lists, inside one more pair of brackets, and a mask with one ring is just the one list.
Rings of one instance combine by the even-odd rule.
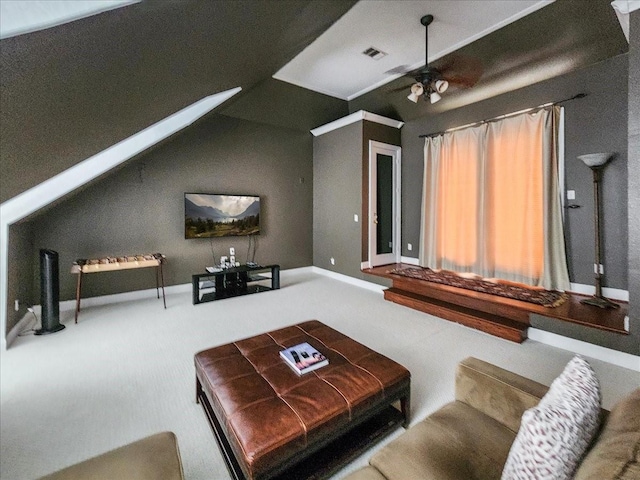
[[390, 480], [499, 479], [515, 433], [462, 402], [414, 425], [370, 460]]

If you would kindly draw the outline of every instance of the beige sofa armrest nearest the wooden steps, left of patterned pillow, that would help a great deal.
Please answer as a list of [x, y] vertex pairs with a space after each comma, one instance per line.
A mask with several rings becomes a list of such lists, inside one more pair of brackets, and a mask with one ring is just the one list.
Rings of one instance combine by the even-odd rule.
[[481, 411], [517, 433], [525, 410], [534, 407], [549, 387], [468, 357], [456, 370], [456, 400]]

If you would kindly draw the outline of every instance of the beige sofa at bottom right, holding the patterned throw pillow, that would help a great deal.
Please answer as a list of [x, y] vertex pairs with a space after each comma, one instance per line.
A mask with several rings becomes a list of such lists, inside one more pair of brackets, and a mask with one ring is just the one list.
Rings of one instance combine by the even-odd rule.
[[[520, 418], [548, 390], [476, 358], [459, 365], [455, 401], [383, 447], [348, 480], [499, 479]], [[609, 414], [575, 480], [640, 480], [640, 389]], [[345, 480], [347, 480], [345, 479]]]

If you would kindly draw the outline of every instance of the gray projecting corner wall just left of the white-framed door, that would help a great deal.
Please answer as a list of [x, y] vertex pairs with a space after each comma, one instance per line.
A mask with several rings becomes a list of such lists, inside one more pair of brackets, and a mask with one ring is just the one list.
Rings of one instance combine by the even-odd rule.
[[399, 145], [400, 133], [365, 120], [313, 139], [313, 264], [386, 283], [361, 272], [366, 259], [368, 212], [363, 196], [368, 188], [369, 140]]

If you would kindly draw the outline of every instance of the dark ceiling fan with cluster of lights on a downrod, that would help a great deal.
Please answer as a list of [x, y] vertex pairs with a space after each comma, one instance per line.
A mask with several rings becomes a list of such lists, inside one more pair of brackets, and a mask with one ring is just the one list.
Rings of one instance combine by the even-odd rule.
[[[425, 27], [425, 65], [417, 70], [403, 72], [407, 77], [415, 80], [410, 87], [411, 93], [407, 96], [409, 100], [418, 103], [420, 97], [431, 103], [440, 101], [450, 84], [456, 84], [464, 88], [470, 88], [476, 84], [482, 75], [480, 62], [467, 57], [450, 56], [447, 63], [440, 68], [429, 65], [429, 25], [433, 22], [433, 15], [425, 15], [420, 19], [420, 23]], [[389, 73], [392, 73], [391, 71]], [[396, 71], [395, 73], [399, 73]], [[404, 90], [402, 87], [398, 90]]]

